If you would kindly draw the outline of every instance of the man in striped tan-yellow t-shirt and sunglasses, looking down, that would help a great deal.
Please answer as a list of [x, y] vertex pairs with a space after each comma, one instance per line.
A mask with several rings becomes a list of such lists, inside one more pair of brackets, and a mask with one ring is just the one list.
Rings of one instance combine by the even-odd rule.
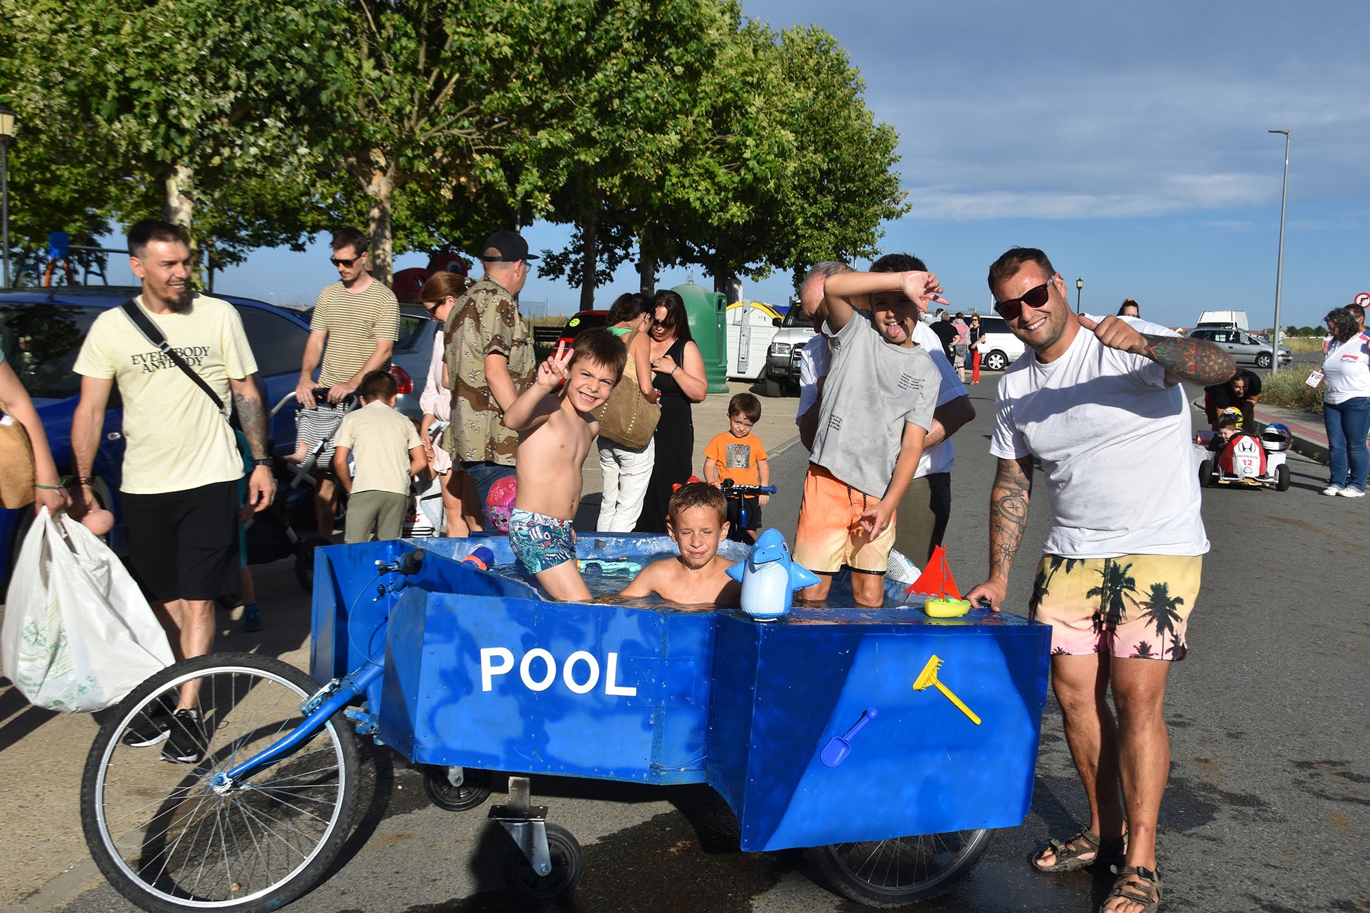
[[[400, 336], [400, 304], [395, 292], [366, 269], [370, 247], [371, 239], [355, 228], [338, 229], [333, 234], [330, 262], [338, 270], [338, 281], [319, 292], [310, 318], [310, 340], [300, 362], [300, 380], [295, 387], [301, 409], [336, 411], [337, 419], [345, 411], [338, 409], [338, 403], [356, 392], [362, 378], [390, 363], [395, 340]], [[314, 381], [315, 367], [319, 367], [318, 382]], [[314, 391], [319, 387], [329, 392], [325, 402], [316, 403]], [[330, 424], [330, 428], [336, 425]], [[332, 536], [337, 487], [326, 465], [319, 466], [318, 481], [314, 517], [319, 533]]]

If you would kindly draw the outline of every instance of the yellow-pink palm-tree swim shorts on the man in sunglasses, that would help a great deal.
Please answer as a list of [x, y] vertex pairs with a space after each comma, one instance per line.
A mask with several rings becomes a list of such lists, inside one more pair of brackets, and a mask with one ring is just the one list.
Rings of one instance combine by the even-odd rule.
[[1051, 625], [1052, 655], [1185, 658], [1203, 555], [1043, 555], [1028, 617]]

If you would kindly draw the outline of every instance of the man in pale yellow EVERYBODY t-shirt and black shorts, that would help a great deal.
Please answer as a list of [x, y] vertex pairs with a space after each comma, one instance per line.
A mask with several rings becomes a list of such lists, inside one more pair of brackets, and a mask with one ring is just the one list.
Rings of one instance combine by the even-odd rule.
[[[256, 361], [238, 313], [227, 302], [189, 289], [190, 248], [169, 222], [144, 219], [129, 230], [129, 265], [142, 280], [134, 302], [167, 344], [223, 403], [233, 403], [252, 448], [248, 503], [271, 503], [275, 480], [267, 450], [266, 409], [252, 381]], [[238, 579], [237, 480], [242, 477], [233, 429], [210, 396], [133, 324], [123, 308], [105, 311], [77, 356], [81, 400], [71, 419], [79, 491], [71, 513], [96, 506], [92, 472], [114, 385], [123, 399], [123, 520], [129, 565], [160, 611], [177, 658], [214, 646], [214, 599]], [[199, 681], [181, 687], [166, 714], [138, 721], [125, 735], [137, 747], [166, 742], [162, 757], [196, 764], [204, 754]], [[174, 713], [173, 713], [174, 711]], [[144, 731], [145, 729], [145, 731]]]

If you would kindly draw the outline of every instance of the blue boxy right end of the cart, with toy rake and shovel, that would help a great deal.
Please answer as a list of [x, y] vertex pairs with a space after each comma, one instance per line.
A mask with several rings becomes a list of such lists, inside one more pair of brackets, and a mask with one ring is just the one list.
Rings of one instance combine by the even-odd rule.
[[[744, 850], [1022, 823], [1049, 631], [989, 613], [933, 621], [911, 609], [719, 617], [708, 779], [737, 813]], [[934, 687], [914, 691], [933, 655], [981, 725]], [[869, 707], [878, 717], [845, 761], [822, 764]], [[859, 814], [852, 796], [869, 796]]]

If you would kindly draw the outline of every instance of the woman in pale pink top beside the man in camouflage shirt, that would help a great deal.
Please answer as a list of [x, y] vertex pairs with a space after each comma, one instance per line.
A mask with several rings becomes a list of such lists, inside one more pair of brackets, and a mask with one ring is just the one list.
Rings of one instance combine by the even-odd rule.
[[[419, 395], [423, 421], [419, 439], [429, 459], [429, 469], [443, 480], [443, 511], [447, 515], [447, 535], [466, 536], [481, 529], [480, 496], [471, 477], [452, 465], [452, 456], [441, 446], [434, 446], [443, 429], [452, 419], [452, 391], [443, 384], [443, 351], [447, 347], [447, 321], [456, 308], [456, 299], [471, 287], [471, 280], [456, 273], [437, 271], [423, 282], [419, 300], [434, 321], [441, 325], [433, 333], [433, 358], [429, 361], [427, 380]], [[436, 428], [434, 428], [436, 425]]]

